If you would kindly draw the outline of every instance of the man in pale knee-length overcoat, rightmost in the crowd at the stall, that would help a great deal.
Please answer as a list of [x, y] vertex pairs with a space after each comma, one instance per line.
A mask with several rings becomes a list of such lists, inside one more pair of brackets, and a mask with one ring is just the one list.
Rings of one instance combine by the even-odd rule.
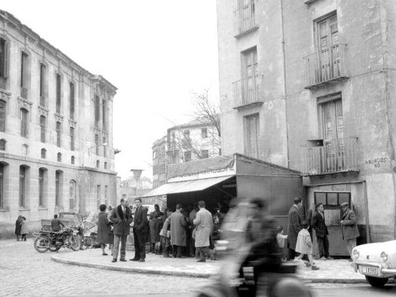
[[199, 211], [193, 220], [196, 225], [195, 247], [199, 252], [199, 260], [197, 262], [206, 262], [205, 256], [209, 255], [214, 260], [213, 250], [209, 248], [209, 236], [213, 229], [212, 214], [205, 208], [205, 201], [198, 202]]

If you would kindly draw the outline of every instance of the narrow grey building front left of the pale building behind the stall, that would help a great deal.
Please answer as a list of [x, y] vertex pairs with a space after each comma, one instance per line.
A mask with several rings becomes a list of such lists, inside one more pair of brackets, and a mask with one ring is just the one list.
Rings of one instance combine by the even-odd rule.
[[152, 144], [152, 187], [166, 184], [166, 136]]

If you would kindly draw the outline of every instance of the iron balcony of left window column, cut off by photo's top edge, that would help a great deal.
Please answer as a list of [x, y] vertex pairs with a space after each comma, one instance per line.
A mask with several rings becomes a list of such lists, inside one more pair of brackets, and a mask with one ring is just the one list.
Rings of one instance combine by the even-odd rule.
[[255, 20], [254, 6], [255, 1], [250, 1], [234, 11], [236, 38], [258, 28]]

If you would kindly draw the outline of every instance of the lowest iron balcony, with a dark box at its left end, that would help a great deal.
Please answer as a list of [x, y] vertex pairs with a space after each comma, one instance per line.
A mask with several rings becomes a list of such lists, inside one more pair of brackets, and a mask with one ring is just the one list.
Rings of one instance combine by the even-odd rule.
[[324, 140], [318, 147], [300, 146], [300, 153], [304, 175], [359, 171], [356, 137]]

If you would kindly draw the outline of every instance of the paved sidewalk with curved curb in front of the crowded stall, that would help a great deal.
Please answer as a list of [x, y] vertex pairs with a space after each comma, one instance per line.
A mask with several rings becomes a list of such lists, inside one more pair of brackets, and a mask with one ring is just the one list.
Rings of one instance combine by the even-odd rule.
[[[108, 250], [106, 250], [107, 252]], [[87, 266], [99, 269], [118, 270], [125, 272], [140, 272], [163, 275], [178, 275], [188, 277], [208, 278], [217, 275], [222, 260], [207, 260], [198, 263], [194, 258], [163, 258], [152, 253], [147, 254], [146, 262], [133, 262], [129, 258], [134, 252], [127, 251], [127, 262], [117, 261], [111, 263], [112, 257], [103, 256], [101, 249], [87, 249], [72, 253], [55, 254], [51, 257], [53, 261]], [[360, 273], [355, 273], [347, 259], [315, 260], [319, 270], [311, 270], [301, 264], [298, 266], [297, 274], [302, 280], [315, 283], [365, 283], [366, 280]], [[390, 280], [392, 281], [392, 280]]]

